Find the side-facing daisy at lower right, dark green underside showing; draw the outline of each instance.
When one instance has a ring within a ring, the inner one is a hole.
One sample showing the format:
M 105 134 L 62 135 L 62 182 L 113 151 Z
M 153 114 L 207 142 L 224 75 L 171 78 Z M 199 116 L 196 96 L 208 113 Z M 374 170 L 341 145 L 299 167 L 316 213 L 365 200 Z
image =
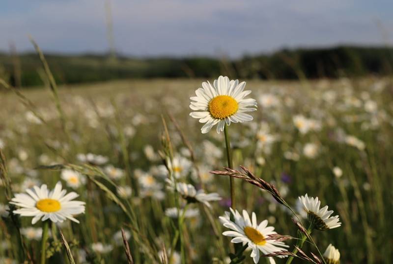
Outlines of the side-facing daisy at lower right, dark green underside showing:
M 316 229 L 327 230 L 341 226 L 338 216 L 331 217 L 333 211 L 328 211 L 327 205 L 319 209 L 321 206 L 321 201 L 319 201 L 318 197 L 309 198 L 309 196 L 306 194 L 305 196 L 300 196 L 299 201 L 303 204 L 309 221 Z

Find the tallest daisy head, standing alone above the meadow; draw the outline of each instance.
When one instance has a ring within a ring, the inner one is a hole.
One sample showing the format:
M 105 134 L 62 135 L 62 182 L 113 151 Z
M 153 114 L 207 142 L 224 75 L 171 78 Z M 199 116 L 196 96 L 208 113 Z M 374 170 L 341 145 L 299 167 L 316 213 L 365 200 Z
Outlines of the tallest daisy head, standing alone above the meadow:
M 229 80 L 228 77 L 220 76 L 214 80 L 213 86 L 210 82 L 202 82 L 203 88 L 198 88 L 193 96 L 190 108 L 201 112 L 192 112 L 190 116 L 205 123 L 201 131 L 203 134 L 217 124 L 217 133 L 224 131 L 225 123 L 251 121 L 253 117 L 246 114 L 256 110 L 255 99 L 244 97 L 251 91 L 243 91 L 246 82 L 239 83 L 238 80 Z

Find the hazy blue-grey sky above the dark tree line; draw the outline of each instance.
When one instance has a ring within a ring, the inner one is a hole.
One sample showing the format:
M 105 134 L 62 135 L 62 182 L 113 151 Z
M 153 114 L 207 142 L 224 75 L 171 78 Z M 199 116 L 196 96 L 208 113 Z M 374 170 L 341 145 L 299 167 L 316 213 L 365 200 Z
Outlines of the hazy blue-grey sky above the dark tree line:
M 393 42 L 392 0 L 110 0 L 115 46 L 136 56 L 229 55 Z M 105 0 L 12 0 L 0 50 L 108 50 Z

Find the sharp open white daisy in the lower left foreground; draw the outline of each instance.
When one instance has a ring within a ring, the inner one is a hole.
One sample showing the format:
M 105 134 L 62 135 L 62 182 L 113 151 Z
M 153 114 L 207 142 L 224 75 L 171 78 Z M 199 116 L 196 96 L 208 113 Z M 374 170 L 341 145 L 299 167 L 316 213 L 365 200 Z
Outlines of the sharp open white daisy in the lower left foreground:
M 14 214 L 21 216 L 34 216 L 31 220 L 35 224 L 42 218 L 42 221 L 51 219 L 52 222 L 63 222 L 70 219 L 79 223 L 73 216 L 84 213 L 84 202 L 72 201 L 79 195 L 76 192 L 66 194 L 62 190 L 61 183 L 57 182 L 55 189 L 49 192 L 46 184 L 41 187 L 34 186 L 27 189 L 26 193 L 17 193 L 11 199 L 11 204 L 22 207 L 13 211 Z

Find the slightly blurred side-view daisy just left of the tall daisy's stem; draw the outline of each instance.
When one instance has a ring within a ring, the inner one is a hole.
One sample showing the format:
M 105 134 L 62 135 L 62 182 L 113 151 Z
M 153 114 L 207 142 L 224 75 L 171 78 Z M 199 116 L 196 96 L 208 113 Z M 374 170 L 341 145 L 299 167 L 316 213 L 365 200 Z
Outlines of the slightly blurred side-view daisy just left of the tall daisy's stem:
M 174 184 L 171 180 L 167 179 L 168 189 L 174 190 Z M 177 191 L 180 195 L 186 199 L 188 202 L 200 202 L 206 205 L 207 207 L 211 207 L 211 201 L 220 201 L 222 198 L 217 192 L 205 193 L 204 190 L 196 190 L 195 187 L 191 184 L 186 184 L 179 182 L 177 183 Z

